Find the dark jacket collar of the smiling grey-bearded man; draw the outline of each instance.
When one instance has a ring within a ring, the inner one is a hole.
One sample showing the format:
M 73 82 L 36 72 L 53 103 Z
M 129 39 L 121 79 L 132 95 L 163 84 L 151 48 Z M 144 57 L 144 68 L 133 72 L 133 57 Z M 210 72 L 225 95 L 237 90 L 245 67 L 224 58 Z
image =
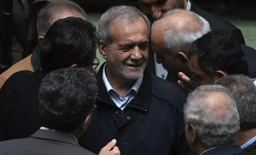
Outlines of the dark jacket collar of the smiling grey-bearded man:
M 97 85 L 99 87 L 98 100 L 101 100 L 102 102 L 116 106 L 114 102 L 111 100 L 107 92 L 107 88 L 103 82 L 103 68 L 105 64 L 106 62 L 101 65 L 96 76 Z M 133 107 L 142 111 L 147 111 L 149 109 L 149 104 L 151 102 L 151 95 L 152 95 L 151 87 L 152 87 L 151 75 L 146 69 L 144 71 L 142 84 L 140 86 L 138 93 L 136 94 L 135 98 L 132 99 L 131 102 L 126 107 Z

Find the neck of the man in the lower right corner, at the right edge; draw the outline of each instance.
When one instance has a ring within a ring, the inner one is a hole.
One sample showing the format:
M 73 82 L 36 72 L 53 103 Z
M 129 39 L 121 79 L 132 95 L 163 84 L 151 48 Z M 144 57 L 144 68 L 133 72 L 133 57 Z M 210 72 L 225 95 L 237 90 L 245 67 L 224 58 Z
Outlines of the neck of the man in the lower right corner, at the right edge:
M 256 136 L 256 129 L 250 129 L 246 131 L 239 131 L 237 134 L 237 144 L 239 146 L 244 145 L 246 142 Z

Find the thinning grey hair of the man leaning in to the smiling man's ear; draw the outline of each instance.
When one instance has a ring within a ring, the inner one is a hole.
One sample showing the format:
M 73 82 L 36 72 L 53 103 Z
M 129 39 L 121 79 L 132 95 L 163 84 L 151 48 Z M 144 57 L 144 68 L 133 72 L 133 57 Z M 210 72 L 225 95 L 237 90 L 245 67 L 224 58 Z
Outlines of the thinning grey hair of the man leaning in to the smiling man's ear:
M 175 27 L 174 25 L 170 25 L 169 27 L 165 28 L 163 42 L 165 44 L 165 48 L 167 48 L 167 50 L 174 56 L 179 51 L 188 51 L 195 40 L 201 38 L 204 34 L 207 34 L 211 31 L 210 25 L 206 19 L 192 11 L 187 11 L 184 9 L 169 10 L 163 14 L 159 20 L 168 15 L 172 15 L 181 11 L 187 12 L 194 17 L 195 26 L 190 26 L 187 24 L 183 27 Z M 152 28 L 159 20 L 153 23 Z M 197 30 L 195 30 L 195 28 Z

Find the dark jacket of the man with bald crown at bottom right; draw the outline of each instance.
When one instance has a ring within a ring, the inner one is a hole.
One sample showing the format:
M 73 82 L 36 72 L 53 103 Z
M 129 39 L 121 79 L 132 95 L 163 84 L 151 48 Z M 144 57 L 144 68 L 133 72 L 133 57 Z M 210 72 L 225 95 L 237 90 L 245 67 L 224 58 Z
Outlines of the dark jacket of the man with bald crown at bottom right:
M 241 147 L 237 144 L 227 144 L 208 149 L 201 153 L 201 155 L 237 155 L 241 150 Z

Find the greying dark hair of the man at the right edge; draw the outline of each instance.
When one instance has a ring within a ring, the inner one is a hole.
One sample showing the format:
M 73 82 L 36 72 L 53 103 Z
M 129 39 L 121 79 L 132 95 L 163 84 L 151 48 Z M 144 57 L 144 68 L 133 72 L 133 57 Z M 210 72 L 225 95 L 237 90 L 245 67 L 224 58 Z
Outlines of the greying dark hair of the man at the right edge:
M 226 87 L 237 103 L 240 130 L 256 128 L 256 86 L 249 77 L 232 75 L 215 82 Z

